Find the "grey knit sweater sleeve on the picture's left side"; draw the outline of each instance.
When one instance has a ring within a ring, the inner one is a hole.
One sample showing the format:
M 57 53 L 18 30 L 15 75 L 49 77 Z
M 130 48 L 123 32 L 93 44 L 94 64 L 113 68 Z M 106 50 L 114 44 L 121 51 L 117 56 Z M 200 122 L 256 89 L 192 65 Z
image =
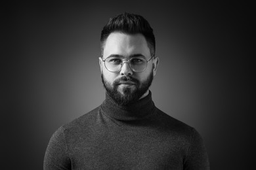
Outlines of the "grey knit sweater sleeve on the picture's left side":
M 66 143 L 63 127 L 60 127 L 49 141 L 45 152 L 45 159 L 43 161 L 43 169 L 71 169 L 71 161 L 68 156 L 68 145 Z

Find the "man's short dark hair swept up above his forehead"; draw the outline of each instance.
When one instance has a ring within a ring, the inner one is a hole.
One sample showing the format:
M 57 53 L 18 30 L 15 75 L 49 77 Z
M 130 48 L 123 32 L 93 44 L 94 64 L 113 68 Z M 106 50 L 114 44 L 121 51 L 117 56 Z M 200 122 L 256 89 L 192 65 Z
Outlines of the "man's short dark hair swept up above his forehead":
M 106 42 L 106 39 L 108 38 L 110 33 L 113 33 L 115 31 L 131 35 L 141 33 L 148 43 L 151 56 L 155 56 L 156 41 L 153 29 L 152 27 L 150 27 L 148 21 L 142 16 L 125 12 L 123 14 L 119 14 L 117 16 L 114 16 L 113 18 L 110 18 L 110 21 L 103 27 L 100 35 L 100 46 L 102 54 L 104 42 Z

